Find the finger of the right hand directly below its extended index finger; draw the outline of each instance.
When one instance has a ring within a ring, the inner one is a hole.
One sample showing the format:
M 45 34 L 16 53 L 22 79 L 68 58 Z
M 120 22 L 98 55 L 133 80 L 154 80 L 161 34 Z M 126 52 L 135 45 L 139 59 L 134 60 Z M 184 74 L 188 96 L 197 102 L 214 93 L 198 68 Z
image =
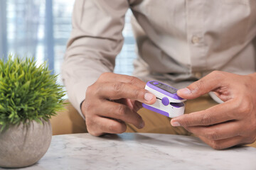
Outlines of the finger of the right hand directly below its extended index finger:
M 186 130 L 196 136 L 206 137 L 208 140 L 223 140 L 244 134 L 243 124 L 230 121 L 211 126 L 190 126 Z

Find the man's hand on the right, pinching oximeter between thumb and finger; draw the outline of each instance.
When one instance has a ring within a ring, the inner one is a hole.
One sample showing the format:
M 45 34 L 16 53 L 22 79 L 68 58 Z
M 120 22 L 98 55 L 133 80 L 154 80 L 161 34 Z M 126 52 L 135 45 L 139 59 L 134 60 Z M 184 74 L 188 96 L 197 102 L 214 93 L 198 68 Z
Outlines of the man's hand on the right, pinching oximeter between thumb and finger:
M 256 74 L 241 76 L 214 71 L 185 89 L 178 96 L 197 98 L 210 91 L 224 103 L 205 111 L 181 115 L 171 125 L 183 126 L 210 147 L 225 149 L 256 140 Z

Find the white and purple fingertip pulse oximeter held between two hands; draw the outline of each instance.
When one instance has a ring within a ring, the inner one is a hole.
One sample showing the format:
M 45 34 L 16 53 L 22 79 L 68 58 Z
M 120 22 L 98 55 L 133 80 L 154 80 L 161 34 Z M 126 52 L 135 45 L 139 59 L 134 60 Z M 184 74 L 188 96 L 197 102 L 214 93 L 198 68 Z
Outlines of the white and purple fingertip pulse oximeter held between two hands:
M 156 103 L 152 105 L 142 103 L 144 108 L 166 115 L 169 118 L 184 114 L 185 104 L 183 101 L 186 101 L 186 99 L 177 95 L 177 89 L 159 81 L 148 81 L 145 89 L 156 96 Z

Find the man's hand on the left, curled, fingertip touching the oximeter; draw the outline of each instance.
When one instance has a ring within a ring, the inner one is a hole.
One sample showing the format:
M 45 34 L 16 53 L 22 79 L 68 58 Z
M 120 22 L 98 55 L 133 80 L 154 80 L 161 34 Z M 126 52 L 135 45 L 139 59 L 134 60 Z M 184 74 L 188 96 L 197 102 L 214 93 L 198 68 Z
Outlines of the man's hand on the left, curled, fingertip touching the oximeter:
M 87 88 L 82 102 L 88 132 L 95 136 L 122 133 L 127 128 L 126 123 L 143 128 L 145 123 L 137 111 L 142 103 L 156 101 L 156 96 L 144 89 L 145 85 L 136 77 L 103 73 Z

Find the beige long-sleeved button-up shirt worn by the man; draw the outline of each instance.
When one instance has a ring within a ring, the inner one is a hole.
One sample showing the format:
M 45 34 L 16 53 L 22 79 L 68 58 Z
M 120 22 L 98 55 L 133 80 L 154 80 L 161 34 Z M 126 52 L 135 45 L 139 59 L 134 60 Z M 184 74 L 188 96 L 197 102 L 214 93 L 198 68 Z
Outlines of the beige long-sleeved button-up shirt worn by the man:
M 256 0 L 77 0 L 62 77 L 78 111 L 87 86 L 113 72 L 128 8 L 144 81 L 181 88 L 213 70 L 255 72 Z

